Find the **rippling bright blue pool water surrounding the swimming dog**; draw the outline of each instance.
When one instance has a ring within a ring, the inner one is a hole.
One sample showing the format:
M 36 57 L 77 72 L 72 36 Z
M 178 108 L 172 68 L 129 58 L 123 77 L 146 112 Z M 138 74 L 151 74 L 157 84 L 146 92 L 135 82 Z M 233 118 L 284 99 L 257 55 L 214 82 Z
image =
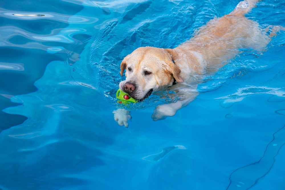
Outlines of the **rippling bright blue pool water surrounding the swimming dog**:
M 121 60 L 174 48 L 239 0 L 0 1 L 0 189 L 284 190 L 285 32 L 244 50 L 174 117 L 112 111 Z M 248 18 L 285 23 L 265 0 Z

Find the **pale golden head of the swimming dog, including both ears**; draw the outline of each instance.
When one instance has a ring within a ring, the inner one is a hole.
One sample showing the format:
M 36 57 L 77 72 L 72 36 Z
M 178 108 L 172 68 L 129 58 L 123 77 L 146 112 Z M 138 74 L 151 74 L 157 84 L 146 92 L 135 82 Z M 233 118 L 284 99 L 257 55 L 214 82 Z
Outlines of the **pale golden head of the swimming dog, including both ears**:
M 172 49 L 142 47 L 127 55 L 121 63 L 126 80 L 119 87 L 137 100 L 148 97 L 160 87 L 171 86 L 174 79 L 183 82 L 180 69 L 175 64 L 176 52 Z

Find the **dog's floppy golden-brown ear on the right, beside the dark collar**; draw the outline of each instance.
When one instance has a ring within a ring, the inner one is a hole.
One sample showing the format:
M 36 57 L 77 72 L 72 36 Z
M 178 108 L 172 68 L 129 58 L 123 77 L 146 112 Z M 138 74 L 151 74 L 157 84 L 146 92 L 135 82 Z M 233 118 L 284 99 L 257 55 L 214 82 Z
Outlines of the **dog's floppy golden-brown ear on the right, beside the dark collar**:
M 166 69 L 172 74 L 172 76 L 177 82 L 183 82 L 183 79 L 179 75 L 181 73 L 181 70 L 175 64 L 175 60 L 177 58 L 177 52 L 173 49 L 165 49 L 165 50 L 170 55 L 170 59 L 167 59 L 168 66 L 166 66 Z

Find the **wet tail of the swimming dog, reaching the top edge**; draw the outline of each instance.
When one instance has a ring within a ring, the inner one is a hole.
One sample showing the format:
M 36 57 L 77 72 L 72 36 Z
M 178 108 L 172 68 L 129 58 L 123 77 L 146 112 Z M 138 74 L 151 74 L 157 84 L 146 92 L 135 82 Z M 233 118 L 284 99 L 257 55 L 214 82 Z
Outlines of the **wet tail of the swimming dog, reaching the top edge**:
M 241 16 L 249 13 L 251 11 L 251 9 L 253 9 L 259 1 L 260 0 L 244 0 L 244 1 L 241 1 L 241 2 L 239 2 L 239 4 L 237 4 L 235 9 L 229 15 L 241 17 Z

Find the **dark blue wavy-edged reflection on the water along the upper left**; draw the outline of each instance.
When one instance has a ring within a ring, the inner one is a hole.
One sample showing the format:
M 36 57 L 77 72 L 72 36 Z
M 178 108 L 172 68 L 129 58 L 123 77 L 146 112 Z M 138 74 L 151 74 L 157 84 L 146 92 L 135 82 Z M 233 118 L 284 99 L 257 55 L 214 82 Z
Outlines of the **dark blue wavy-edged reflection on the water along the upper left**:
M 0 81 L 5 81 L 0 84 L 0 94 L 14 97 L 37 90 L 34 82 L 42 77 L 46 65 L 54 60 L 64 61 L 65 57 L 62 54 L 50 55 L 46 49 L 68 46 L 59 32 L 68 26 L 68 19 L 82 8 L 81 3 L 64 1 L 0 1 Z M 53 40 L 58 40 L 58 44 L 51 42 Z M 16 105 L 0 96 L 0 131 L 27 119 L 2 111 Z

